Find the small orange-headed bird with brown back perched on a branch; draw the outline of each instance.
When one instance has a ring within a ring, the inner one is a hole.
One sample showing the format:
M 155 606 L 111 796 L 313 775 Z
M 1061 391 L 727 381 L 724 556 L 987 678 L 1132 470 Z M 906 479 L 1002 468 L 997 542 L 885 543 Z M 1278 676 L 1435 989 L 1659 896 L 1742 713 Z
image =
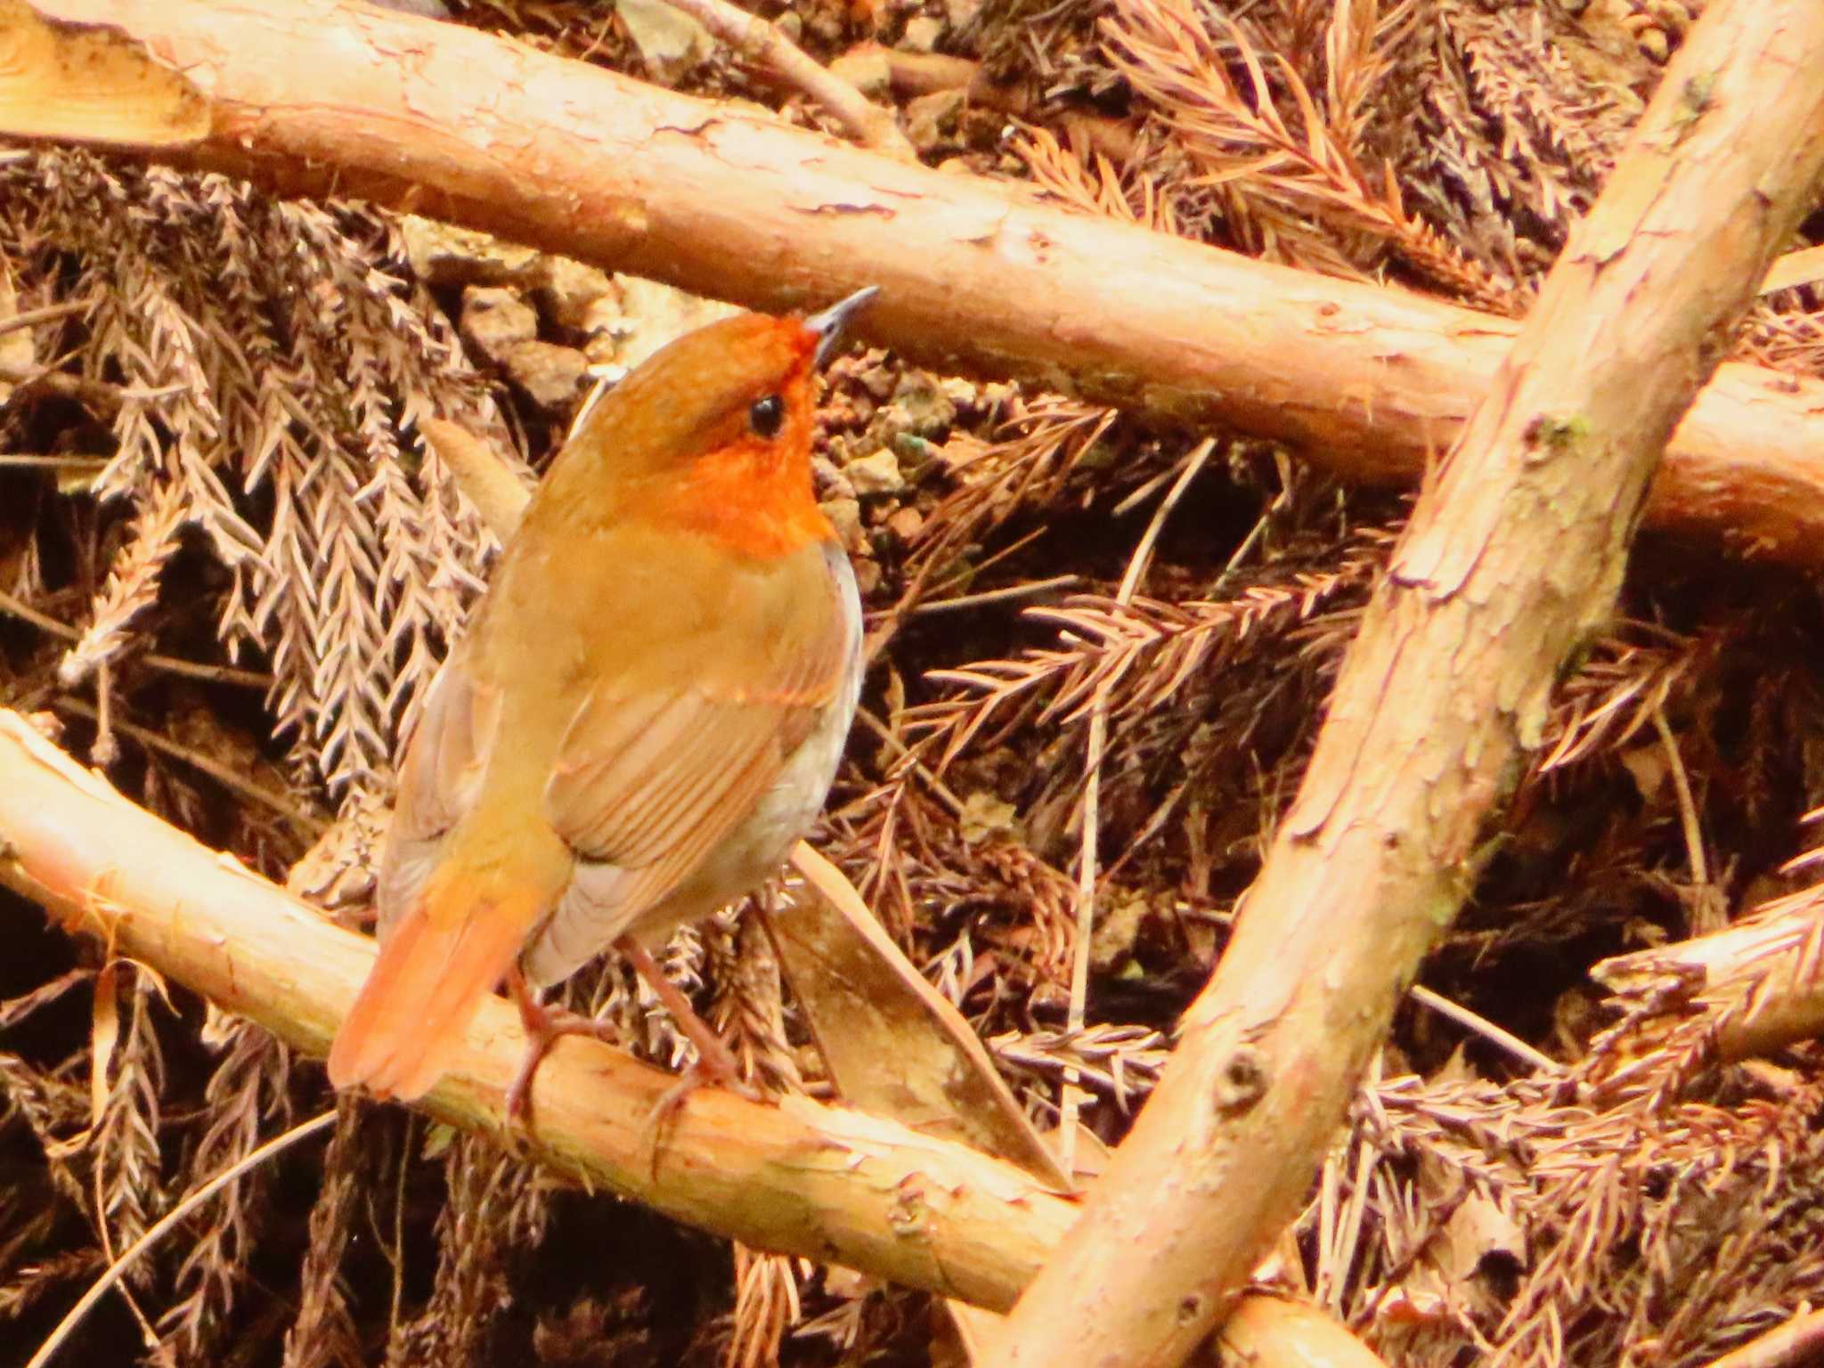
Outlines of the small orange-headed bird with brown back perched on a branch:
M 536 989 L 609 945 L 730 1082 L 646 947 L 764 881 L 835 777 L 861 602 L 812 494 L 812 370 L 874 294 L 679 337 L 553 461 L 407 742 L 336 1087 L 421 1096 L 507 979 L 516 1113 L 576 1029 Z

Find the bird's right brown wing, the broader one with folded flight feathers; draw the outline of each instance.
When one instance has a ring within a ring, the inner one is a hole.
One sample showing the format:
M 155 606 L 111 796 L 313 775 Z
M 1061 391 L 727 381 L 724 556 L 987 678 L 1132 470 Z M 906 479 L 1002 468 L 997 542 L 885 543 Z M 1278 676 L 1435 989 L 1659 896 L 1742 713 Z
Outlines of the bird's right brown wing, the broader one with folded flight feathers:
M 850 631 L 821 560 L 808 587 L 828 595 L 826 627 L 801 651 L 673 691 L 602 680 L 578 710 L 545 788 L 545 817 L 580 861 L 545 928 L 553 947 L 575 947 L 564 959 L 607 947 L 688 879 L 843 688 Z

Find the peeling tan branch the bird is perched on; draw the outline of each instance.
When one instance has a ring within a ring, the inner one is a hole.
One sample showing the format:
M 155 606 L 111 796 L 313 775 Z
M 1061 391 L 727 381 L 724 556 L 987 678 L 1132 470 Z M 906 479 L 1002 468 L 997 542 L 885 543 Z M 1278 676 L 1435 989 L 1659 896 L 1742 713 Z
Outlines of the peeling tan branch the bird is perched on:
M 4 710 L 0 883 L 312 1056 L 374 959 L 372 939 L 135 808 Z M 514 1009 L 489 1000 L 425 1109 L 502 1127 L 523 1043 Z M 675 1083 L 564 1040 L 538 1071 L 525 1145 L 702 1229 L 989 1308 L 1012 1302 L 1076 1211 L 1012 1164 L 804 1098 L 699 1089 L 655 1155 L 649 1118 Z

